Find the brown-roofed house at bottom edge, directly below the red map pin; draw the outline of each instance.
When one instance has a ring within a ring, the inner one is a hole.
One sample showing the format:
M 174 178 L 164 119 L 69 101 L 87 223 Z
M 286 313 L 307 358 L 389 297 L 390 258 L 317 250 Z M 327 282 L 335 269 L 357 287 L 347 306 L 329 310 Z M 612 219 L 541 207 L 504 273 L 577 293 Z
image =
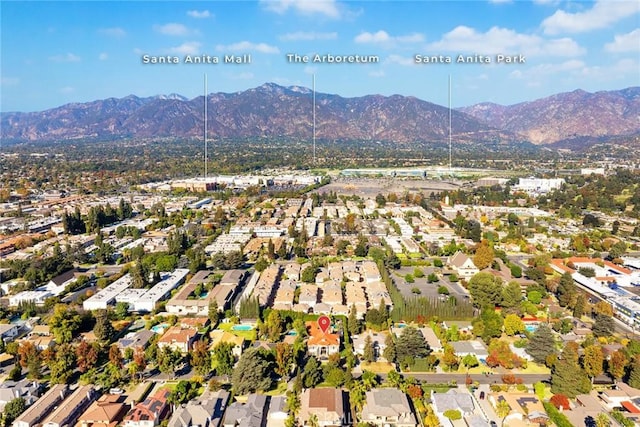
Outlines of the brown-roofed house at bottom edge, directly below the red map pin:
M 302 392 L 298 421 L 303 426 L 318 427 L 347 425 L 344 392 L 339 388 L 309 388 Z

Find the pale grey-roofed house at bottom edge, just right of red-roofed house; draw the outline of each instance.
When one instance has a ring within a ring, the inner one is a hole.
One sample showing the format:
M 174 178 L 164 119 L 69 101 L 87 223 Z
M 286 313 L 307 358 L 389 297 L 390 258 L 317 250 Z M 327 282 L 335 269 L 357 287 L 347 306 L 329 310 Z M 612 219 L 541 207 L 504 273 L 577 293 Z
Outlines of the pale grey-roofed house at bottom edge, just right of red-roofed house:
M 226 390 L 205 392 L 197 400 L 176 408 L 168 427 L 219 427 L 229 396 Z

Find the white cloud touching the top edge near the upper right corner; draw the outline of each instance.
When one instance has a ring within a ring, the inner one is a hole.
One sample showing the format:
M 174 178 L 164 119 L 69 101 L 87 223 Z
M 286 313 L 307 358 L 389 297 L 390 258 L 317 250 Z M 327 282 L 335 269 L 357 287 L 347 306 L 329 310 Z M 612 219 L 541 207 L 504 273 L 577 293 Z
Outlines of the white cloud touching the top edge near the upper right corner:
M 583 33 L 607 28 L 619 20 L 640 12 L 638 1 L 598 0 L 591 9 L 569 13 L 557 10 L 542 21 L 546 34 Z

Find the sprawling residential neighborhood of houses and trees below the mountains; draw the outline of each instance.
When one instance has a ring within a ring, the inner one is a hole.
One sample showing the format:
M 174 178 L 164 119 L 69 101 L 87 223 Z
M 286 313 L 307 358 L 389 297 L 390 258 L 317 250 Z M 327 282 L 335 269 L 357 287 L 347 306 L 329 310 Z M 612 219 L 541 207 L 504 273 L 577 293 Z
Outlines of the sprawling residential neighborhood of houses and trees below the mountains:
M 59 221 L 3 239 L 6 425 L 640 423 L 635 217 L 358 182 L 33 200 Z

